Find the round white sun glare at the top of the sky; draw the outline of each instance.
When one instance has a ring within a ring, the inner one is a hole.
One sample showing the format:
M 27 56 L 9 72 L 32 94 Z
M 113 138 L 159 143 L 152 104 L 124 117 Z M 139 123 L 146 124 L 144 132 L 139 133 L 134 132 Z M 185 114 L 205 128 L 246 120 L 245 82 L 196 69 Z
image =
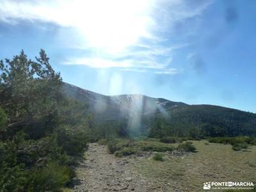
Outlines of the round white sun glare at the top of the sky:
M 68 17 L 92 47 L 106 52 L 123 51 L 140 37 L 150 37 L 149 1 L 72 1 Z M 71 21 L 70 20 L 70 21 Z

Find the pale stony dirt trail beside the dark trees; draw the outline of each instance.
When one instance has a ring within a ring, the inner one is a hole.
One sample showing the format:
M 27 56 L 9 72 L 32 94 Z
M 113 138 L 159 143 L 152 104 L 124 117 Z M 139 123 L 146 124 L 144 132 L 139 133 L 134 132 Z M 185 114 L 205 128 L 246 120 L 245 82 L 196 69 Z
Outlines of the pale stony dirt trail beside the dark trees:
M 147 157 L 118 158 L 105 145 L 91 143 L 86 161 L 77 168 L 80 183 L 72 191 L 162 191 L 133 168 L 140 158 Z

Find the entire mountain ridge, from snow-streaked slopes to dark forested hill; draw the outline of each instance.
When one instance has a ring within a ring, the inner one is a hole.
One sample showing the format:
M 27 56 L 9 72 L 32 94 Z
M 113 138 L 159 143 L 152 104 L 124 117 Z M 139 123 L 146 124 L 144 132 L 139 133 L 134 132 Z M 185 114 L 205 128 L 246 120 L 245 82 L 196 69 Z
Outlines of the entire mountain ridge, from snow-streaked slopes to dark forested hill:
M 71 99 L 86 104 L 97 121 L 125 122 L 128 128 L 151 132 L 153 137 L 189 136 L 191 132 L 200 136 L 256 135 L 255 113 L 145 95 L 106 96 L 68 83 L 63 83 L 63 90 Z

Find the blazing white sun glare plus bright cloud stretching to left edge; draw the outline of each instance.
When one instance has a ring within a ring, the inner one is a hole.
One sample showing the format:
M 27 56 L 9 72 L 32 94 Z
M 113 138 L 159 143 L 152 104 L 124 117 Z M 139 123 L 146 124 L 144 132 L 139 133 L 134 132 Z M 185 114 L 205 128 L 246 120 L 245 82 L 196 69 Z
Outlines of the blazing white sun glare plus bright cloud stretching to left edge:
M 86 47 L 115 53 L 151 36 L 156 1 L 161 0 L 13 0 L 1 2 L 1 11 L 10 22 L 42 20 L 75 29 Z

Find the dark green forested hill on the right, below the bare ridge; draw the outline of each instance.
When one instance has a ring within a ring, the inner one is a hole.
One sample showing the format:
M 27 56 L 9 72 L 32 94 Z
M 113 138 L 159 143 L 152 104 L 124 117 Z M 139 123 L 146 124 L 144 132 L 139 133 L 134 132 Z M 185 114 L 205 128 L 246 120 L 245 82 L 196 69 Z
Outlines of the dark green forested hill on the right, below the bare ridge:
M 212 137 L 252 136 L 256 134 L 256 115 L 236 109 L 210 105 L 172 108 L 168 116 L 161 113 L 145 116 L 142 124 L 152 138 L 188 137 L 194 140 Z

